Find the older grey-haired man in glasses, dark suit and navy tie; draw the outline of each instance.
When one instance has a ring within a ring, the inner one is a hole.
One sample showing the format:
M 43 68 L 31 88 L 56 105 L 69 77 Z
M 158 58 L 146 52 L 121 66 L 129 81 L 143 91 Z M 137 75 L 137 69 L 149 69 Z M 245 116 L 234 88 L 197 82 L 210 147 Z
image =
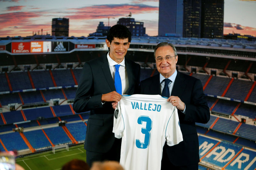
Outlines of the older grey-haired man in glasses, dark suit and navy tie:
M 160 94 L 178 108 L 183 141 L 163 148 L 161 169 L 198 170 L 199 144 L 195 122 L 207 123 L 210 111 L 199 79 L 176 70 L 176 48 L 159 43 L 154 52 L 160 74 L 140 82 L 141 94 Z M 165 84 L 166 82 L 166 84 Z

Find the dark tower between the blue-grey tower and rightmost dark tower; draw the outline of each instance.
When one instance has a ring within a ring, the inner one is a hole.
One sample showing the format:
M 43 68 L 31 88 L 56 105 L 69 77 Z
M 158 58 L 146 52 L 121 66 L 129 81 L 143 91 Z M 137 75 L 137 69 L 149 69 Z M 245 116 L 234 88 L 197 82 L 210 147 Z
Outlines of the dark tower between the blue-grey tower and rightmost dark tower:
M 201 36 L 201 0 L 183 1 L 183 37 Z

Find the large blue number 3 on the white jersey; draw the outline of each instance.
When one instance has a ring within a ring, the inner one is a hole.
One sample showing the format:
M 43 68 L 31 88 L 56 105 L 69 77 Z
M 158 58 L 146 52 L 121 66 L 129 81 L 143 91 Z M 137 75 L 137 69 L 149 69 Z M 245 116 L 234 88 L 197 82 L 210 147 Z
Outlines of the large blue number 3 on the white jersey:
M 141 133 L 145 134 L 144 143 L 141 143 L 140 139 L 136 139 L 137 148 L 146 149 L 150 141 L 150 130 L 152 128 L 152 120 L 148 116 L 140 116 L 137 122 L 138 124 L 146 122 L 146 128 L 141 128 Z

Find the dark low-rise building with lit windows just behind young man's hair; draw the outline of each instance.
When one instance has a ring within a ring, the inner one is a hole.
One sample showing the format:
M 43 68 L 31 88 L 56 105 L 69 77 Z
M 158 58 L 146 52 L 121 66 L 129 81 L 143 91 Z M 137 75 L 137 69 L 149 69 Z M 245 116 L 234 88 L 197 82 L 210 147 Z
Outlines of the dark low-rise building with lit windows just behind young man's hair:
M 132 33 L 132 36 L 146 35 L 146 28 L 143 22 L 135 21 L 134 18 L 119 18 L 117 24 L 126 26 Z

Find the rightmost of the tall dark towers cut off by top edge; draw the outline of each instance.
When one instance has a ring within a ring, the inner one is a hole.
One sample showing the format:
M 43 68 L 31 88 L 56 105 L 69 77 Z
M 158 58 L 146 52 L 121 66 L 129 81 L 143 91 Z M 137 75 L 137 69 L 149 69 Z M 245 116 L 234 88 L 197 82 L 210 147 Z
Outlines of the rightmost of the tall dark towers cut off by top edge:
M 223 39 L 224 0 L 202 1 L 201 38 Z

